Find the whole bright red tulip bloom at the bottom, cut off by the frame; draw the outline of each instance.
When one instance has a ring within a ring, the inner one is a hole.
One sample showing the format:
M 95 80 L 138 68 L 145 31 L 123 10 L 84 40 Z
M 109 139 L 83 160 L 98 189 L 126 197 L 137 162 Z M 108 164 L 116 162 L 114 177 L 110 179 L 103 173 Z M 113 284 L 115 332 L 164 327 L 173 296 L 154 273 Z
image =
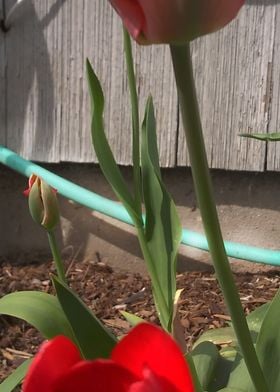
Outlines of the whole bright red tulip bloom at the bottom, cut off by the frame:
M 110 359 L 86 361 L 66 337 L 44 343 L 23 392 L 194 392 L 188 365 L 175 341 L 142 323 L 113 349 Z

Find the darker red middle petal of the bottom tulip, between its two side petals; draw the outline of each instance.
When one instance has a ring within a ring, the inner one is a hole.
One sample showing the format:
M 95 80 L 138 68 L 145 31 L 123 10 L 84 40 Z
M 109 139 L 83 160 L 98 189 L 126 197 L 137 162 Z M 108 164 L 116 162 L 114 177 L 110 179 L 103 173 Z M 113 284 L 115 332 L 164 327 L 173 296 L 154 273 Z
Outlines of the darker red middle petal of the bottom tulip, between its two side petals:
M 127 392 L 137 381 L 134 374 L 109 359 L 83 361 L 60 377 L 52 392 Z

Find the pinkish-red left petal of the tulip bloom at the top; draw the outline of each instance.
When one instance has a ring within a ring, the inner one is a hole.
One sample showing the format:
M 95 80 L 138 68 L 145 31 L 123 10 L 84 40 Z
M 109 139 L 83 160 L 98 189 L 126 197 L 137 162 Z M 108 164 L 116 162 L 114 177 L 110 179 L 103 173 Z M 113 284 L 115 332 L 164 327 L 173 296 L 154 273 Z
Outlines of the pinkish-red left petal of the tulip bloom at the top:
M 123 20 L 132 37 L 136 40 L 142 35 L 145 23 L 144 14 L 137 0 L 111 0 L 112 6 Z

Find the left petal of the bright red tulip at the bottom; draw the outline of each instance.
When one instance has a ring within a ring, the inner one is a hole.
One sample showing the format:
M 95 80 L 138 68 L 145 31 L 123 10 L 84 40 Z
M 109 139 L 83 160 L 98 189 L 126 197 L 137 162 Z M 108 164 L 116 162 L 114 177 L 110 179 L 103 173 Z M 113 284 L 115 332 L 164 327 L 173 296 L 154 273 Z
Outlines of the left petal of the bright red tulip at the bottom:
M 53 392 L 53 382 L 79 361 L 79 350 L 65 336 L 43 343 L 25 377 L 22 392 Z

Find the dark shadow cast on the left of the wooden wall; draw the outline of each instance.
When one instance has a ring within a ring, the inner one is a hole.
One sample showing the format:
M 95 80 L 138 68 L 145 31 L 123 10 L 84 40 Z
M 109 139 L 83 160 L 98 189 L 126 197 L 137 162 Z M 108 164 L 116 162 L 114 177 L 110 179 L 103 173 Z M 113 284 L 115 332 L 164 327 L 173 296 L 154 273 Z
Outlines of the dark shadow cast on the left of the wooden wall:
M 36 113 L 34 139 L 29 154 L 38 160 L 42 157 L 41 149 L 50 151 L 53 148 L 54 138 L 54 82 L 45 29 L 56 17 L 64 2 L 65 0 L 54 2 L 40 20 L 34 1 L 24 0 L 14 11 L 11 17 L 11 28 L 5 34 L 8 86 L 6 144 L 9 148 L 16 150 L 23 146 L 22 124 L 25 123 L 27 108 L 29 108 L 30 116 L 33 115 L 32 111 Z M 14 4 L 15 1 L 7 2 L 7 13 Z M 37 81 L 36 96 L 30 104 L 30 92 L 35 79 Z M 29 135 L 32 135 L 32 130 Z

